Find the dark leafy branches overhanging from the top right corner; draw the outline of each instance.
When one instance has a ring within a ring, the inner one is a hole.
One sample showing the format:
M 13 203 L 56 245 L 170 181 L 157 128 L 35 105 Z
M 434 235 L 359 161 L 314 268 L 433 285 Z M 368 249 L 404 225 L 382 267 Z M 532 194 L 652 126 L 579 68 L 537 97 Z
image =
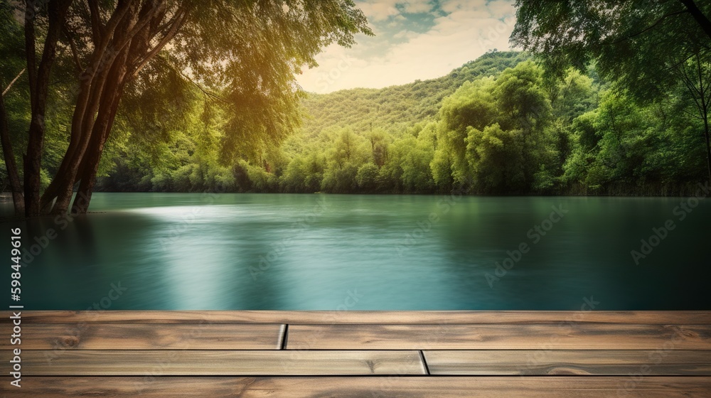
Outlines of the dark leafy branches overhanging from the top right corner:
M 536 53 L 549 71 L 584 70 L 594 62 L 603 77 L 642 103 L 686 87 L 706 122 L 711 180 L 710 2 L 517 0 L 516 7 L 512 43 Z

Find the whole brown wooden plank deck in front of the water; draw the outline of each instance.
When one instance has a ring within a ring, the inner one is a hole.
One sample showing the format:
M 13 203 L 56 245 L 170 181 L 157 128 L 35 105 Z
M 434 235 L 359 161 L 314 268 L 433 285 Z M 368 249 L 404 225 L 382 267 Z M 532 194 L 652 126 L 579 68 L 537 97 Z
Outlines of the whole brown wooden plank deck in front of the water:
M 711 397 L 711 312 L 22 316 L 22 388 L 0 377 L 6 397 Z

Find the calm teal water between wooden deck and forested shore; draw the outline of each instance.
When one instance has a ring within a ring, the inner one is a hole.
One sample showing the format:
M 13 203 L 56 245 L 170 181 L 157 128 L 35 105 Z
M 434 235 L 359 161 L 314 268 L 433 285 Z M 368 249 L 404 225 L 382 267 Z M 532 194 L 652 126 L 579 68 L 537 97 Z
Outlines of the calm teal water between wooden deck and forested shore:
M 709 310 L 711 201 L 688 201 L 96 193 L 1 222 L 0 252 L 21 227 L 25 309 Z

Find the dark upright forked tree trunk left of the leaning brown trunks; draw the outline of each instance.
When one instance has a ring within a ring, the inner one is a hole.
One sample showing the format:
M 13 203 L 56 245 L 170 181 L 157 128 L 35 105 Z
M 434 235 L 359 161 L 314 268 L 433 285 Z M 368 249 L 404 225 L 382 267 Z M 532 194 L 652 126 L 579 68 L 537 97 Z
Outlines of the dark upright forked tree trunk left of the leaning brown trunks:
M 25 179 L 25 215 L 28 217 L 40 213 L 40 171 L 42 165 L 42 147 L 44 144 L 44 114 L 47 104 L 47 93 L 50 71 L 57 55 L 57 41 L 67 10 L 72 0 L 53 0 L 48 4 L 49 25 L 45 38 L 42 60 L 35 69 L 35 28 L 33 11 L 26 12 L 25 50 L 27 58 L 28 77 L 31 93 L 31 120 L 28 132 L 27 152 L 23 158 Z M 34 2 L 28 0 L 27 7 L 33 7 Z

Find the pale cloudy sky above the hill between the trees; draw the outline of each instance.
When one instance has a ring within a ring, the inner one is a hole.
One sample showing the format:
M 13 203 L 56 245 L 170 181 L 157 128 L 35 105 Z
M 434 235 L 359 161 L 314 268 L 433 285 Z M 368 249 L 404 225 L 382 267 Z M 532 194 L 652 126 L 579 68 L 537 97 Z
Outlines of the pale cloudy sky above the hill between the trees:
M 297 76 L 308 92 L 381 88 L 447 75 L 488 50 L 510 49 L 513 0 L 356 0 L 374 37 L 330 45 Z

